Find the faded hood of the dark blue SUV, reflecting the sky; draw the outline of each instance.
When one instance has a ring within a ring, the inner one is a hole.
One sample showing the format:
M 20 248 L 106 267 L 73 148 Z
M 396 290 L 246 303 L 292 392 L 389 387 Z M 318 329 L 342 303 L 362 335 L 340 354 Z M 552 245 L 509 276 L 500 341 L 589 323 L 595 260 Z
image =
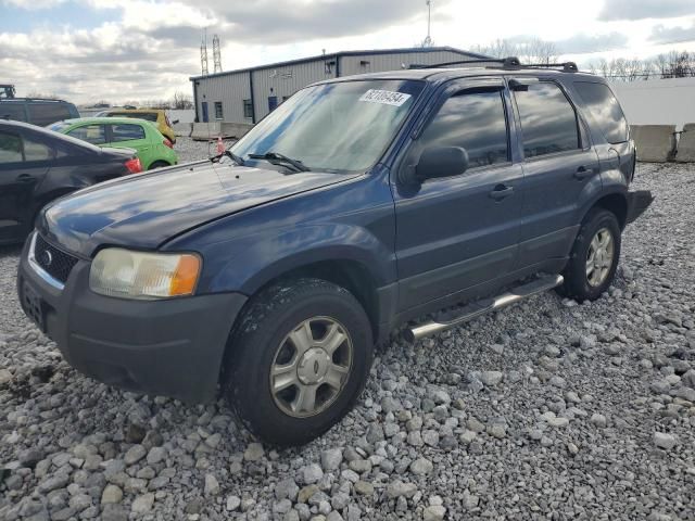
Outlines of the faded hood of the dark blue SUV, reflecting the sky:
M 191 163 L 75 192 L 48 206 L 38 227 L 85 257 L 102 244 L 156 249 L 205 223 L 354 177 Z

